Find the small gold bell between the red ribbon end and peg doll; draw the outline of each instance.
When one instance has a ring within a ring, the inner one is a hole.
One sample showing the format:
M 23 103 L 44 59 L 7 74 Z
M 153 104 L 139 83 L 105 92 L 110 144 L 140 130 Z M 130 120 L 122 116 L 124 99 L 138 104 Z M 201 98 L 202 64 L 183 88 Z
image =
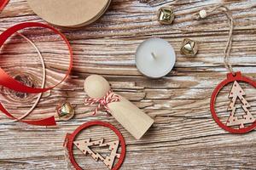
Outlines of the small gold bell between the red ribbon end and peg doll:
M 56 107 L 58 116 L 62 121 L 68 121 L 74 116 L 73 106 L 69 102 L 64 102 Z

